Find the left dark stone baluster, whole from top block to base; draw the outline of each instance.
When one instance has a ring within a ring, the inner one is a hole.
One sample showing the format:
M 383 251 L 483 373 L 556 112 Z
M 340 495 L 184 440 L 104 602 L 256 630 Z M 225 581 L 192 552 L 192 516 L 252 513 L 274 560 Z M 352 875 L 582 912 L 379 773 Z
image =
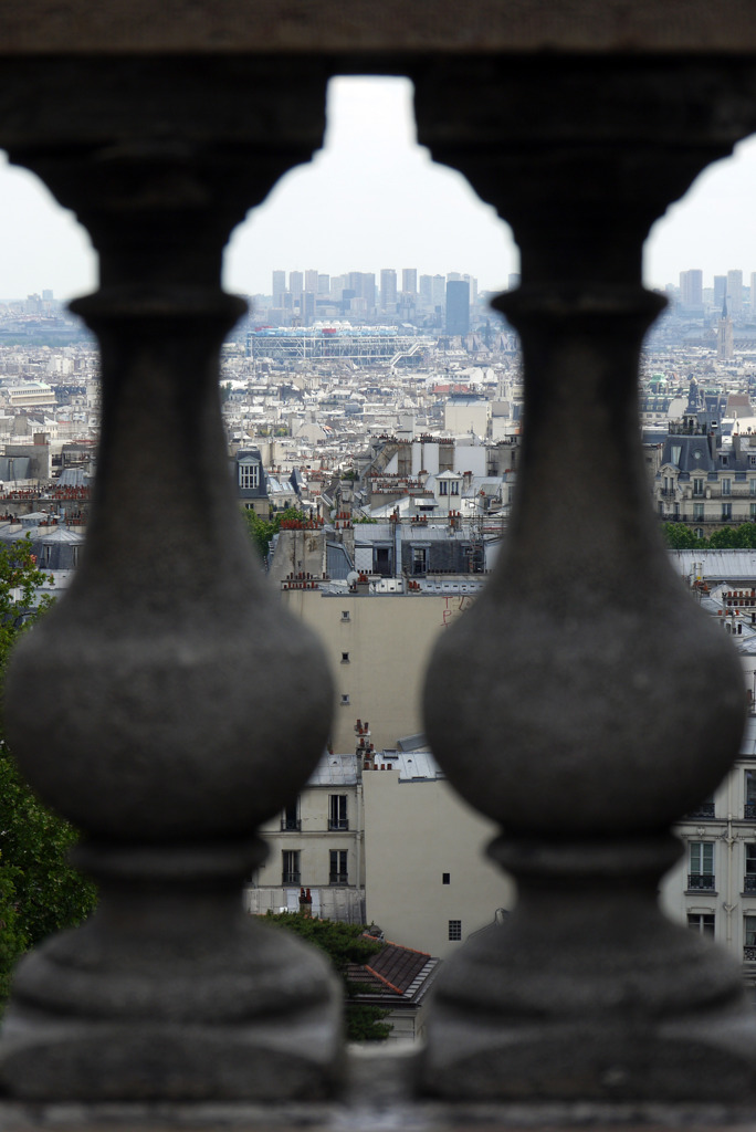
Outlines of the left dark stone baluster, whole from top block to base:
M 242 530 L 217 354 L 244 309 L 220 288 L 223 246 L 319 145 L 325 78 L 104 60 L 69 85 L 72 66 L 40 63 L 43 101 L 2 144 L 100 252 L 100 291 L 72 305 L 102 348 L 98 475 L 84 563 L 19 646 L 6 712 L 101 895 L 22 961 L 0 1080 L 43 1099 L 324 1096 L 334 979 L 248 917 L 241 889 L 257 826 L 324 748 L 332 688 Z

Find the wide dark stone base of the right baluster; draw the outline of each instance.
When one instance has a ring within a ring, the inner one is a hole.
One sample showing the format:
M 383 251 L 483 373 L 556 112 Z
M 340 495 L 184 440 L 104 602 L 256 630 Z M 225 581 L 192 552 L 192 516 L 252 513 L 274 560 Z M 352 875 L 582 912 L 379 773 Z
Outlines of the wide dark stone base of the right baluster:
M 756 1098 L 756 1013 L 725 952 L 671 923 L 673 838 L 495 842 L 519 903 L 438 979 L 423 1091 L 449 1099 Z

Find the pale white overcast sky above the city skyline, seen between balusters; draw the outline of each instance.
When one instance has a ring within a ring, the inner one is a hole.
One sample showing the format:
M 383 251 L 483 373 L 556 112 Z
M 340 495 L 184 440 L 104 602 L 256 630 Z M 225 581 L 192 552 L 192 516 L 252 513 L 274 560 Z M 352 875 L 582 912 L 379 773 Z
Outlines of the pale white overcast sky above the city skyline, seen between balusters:
M 704 286 L 733 268 L 756 272 L 756 137 L 706 170 L 658 222 L 645 282 L 677 283 L 701 267 Z M 326 146 L 290 172 L 237 229 L 226 252 L 231 291 L 269 293 L 275 268 L 329 275 L 381 267 L 470 272 L 482 289 L 518 269 L 508 226 L 464 178 L 414 144 L 406 79 L 342 78 L 329 89 Z M 52 289 L 70 299 L 96 286 L 84 230 L 25 170 L 0 164 L 0 299 Z

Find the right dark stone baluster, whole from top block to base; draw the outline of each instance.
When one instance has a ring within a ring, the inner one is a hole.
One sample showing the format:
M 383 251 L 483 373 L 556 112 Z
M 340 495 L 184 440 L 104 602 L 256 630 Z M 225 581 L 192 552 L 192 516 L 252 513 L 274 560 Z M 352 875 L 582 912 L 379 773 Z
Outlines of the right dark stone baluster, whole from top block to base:
M 513 224 L 522 288 L 496 306 L 526 383 L 501 561 L 426 687 L 433 751 L 501 823 L 490 851 L 518 903 L 441 972 L 423 1088 L 753 1097 L 739 969 L 656 900 L 680 852 L 671 823 L 737 756 L 745 693 L 655 529 L 637 360 L 663 306 L 641 285 L 647 229 L 753 129 L 756 89 L 737 66 L 461 62 L 418 76 L 418 119 Z

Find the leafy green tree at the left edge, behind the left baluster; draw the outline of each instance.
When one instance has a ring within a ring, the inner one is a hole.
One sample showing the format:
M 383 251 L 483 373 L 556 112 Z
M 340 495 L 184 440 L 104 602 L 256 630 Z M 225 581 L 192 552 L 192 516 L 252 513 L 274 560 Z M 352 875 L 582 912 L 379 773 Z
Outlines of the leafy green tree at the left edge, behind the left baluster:
M 48 575 L 28 537 L 0 549 L 0 684 L 20 634 L 51 604 L 40 598 Z M 95 886 L 71 869 L 77 833 L 46 809 L 22 778 L 0 718 L 0 1010 L 16 959 L 51 932 L 79 924 L 94 908 Z

